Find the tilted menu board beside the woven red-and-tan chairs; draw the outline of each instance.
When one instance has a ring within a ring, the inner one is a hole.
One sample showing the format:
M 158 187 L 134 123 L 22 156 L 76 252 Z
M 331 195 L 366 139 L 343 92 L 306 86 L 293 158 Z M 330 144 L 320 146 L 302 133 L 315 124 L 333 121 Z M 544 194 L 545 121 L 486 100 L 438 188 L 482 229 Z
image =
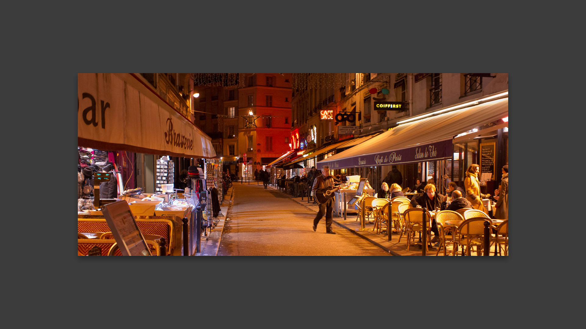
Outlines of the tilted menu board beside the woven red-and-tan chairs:
M 152 256 L 126 201 L 104 205 L 102 212 L 123 256 Z

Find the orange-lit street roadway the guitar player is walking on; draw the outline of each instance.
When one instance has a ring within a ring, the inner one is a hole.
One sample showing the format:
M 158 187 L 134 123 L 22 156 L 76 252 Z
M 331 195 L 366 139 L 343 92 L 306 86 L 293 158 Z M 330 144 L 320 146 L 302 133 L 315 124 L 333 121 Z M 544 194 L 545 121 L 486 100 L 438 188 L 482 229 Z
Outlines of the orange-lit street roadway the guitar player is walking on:
M 315 211 L 262 183 L 234 183 L 231 192 L 218 256 L 389 256 L 336 223 L 337 234 L 326 234 L 325 217 L 314 232 Z

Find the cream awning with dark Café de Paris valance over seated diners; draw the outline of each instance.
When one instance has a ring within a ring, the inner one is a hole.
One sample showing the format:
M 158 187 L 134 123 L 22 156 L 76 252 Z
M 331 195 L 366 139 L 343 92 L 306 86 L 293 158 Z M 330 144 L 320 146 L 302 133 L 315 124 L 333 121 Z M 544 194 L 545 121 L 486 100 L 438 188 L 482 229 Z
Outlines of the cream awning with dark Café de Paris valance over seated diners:
M 407 122 L 328 157 L 316 167 L 341 169 L 451 159 L 456 135 L 506 116 L 508 97 Z

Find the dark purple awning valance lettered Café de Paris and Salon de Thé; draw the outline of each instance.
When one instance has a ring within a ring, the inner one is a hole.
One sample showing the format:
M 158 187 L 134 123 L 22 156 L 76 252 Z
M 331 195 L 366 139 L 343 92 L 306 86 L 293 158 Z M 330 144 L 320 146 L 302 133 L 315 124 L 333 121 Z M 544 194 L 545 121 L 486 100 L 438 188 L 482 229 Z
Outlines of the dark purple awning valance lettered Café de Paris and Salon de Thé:
M 330 169 L 340 169 L 451 159 L 453 149 L 454 145 L 452 145 L 452 140 L 448 139 L 442 142 L 415 146 L 413 148 L 348 157 L 346 159 L 332 160 L 331 162 L 323 161 L 319 162 L 319 167 L 328 165 Z

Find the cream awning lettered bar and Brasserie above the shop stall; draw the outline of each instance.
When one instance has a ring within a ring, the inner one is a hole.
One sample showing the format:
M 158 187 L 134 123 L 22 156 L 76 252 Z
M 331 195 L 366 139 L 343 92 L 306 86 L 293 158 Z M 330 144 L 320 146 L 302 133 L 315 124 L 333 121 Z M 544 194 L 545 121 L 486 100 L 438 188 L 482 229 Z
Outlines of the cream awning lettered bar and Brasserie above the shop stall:
M 216 157 L 212 139 L 130 73 L 77 74 L 77 145 Z

